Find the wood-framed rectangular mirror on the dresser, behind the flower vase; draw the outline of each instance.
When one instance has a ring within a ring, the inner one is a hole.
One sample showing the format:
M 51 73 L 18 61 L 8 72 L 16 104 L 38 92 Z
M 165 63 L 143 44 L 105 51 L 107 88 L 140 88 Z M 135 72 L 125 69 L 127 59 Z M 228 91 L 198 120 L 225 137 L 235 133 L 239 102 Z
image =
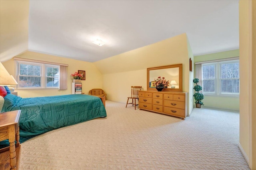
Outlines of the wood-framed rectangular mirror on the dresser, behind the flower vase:
M 147 68 L 147 90 L 156 90 L 153 82 L 159 76 L 170 82 L 162 91 L 182 92 L 182 64 Z

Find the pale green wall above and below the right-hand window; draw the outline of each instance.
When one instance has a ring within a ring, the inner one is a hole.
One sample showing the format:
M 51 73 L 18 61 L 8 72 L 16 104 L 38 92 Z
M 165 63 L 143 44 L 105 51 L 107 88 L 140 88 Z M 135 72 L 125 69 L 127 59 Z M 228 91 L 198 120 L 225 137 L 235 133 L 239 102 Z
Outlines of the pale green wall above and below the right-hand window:
M 239 57 L 239 49 L 224 51 L 220 53 L 212 53 L 208 55 L 194 56 L 194 60 L 195 62 L 200 62 L 200 61 L 209 61 L 209 60 L 216 60 L 216 59 L 225 59 L 230 57 Z M 240 73 L 240 75 L 242 74 Z M 239 97 L 204 95 L 203 102 L 204 102 L 203 107 L 213 107 L 218 109 L 229 109 L 229 110 L 239 111 Z

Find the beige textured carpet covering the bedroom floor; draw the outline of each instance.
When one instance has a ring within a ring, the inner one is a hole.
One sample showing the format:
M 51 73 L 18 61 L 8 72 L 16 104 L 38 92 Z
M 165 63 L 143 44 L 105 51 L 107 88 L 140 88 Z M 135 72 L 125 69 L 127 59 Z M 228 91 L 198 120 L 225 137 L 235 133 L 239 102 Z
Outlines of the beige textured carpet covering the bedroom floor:
M 22 143 L 20 170 L 249 170 L 238 112 L 194 108 L 183 121 L 108 100 L 106 111 Z

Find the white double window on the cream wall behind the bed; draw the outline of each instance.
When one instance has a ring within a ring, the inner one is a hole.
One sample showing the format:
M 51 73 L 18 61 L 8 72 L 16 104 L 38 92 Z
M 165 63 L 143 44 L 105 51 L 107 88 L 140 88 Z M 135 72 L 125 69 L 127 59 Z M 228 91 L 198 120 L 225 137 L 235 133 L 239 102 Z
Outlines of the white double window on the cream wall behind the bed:
M 18 88 L 58 88 L 59 66 L 18 61 Z

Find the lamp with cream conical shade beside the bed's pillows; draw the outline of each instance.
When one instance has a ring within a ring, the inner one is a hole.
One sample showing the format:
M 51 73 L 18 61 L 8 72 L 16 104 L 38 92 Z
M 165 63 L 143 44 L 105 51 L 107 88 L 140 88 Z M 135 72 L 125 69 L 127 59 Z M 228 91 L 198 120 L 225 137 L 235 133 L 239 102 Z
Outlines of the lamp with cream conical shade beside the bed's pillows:
M 12 75 L 8 73 L 4 65 L 0 62 L 0 86 L 14 86 L 18 83 Z M 4 105 L 4 98 L 0 96 L 0 112 Z

